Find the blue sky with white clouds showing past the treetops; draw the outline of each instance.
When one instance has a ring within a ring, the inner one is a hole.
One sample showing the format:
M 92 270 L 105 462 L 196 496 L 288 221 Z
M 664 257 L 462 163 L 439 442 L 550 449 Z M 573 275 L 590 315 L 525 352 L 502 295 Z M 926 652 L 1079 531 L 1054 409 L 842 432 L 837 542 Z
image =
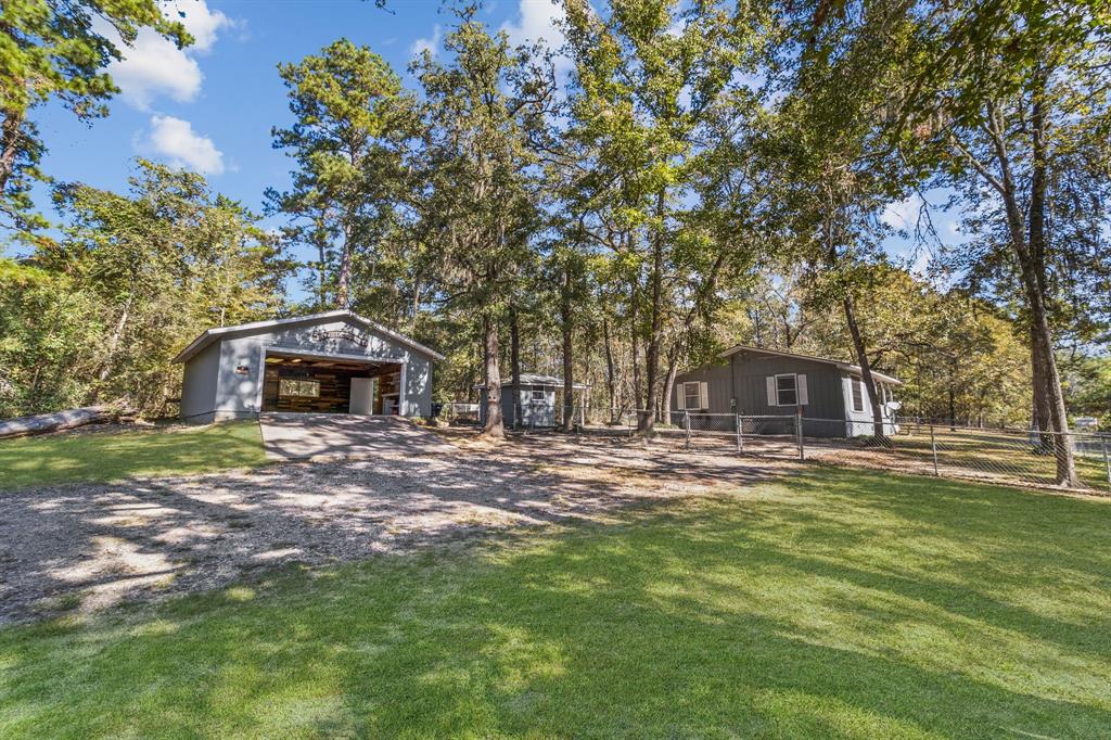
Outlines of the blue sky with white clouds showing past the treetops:
M 39 111 L 49 149 L 43 169 L 59 181 L 123 190 L 131 159 L 143 156 L 189 167 L 212 188 L 261 212 L 263 191 L 289 182 L 290 161 L 271 148 L 270 130 L 291 122 L 277 66 L 347 37 L 380 53 L 407 82 L 413 54 L 436 49 L 454 18 L 440 0 L 389 0 L 388 10 L 358 0 L 163 0 L 197 43 L 177 50 L 144 31 L 109 71 L 122 89 L 111 114 L 92 126 L 58 106 Z M 514 42 L 546 39 L 558 46 L 552 0 L 491 0 L 481 19 L 504 28 Z M 49 208 L 46 189 L 39 202 Z M 917 203 L 893 204 L 891 226 L 912 218 Z M 272 223 L 279 221 L 272 220 Z M 889 251 L 905 254 L 900 239 Z M 920 259 L 921 262 L 921 259 Z M 294 291 L 296 292 L 296 291 Z

